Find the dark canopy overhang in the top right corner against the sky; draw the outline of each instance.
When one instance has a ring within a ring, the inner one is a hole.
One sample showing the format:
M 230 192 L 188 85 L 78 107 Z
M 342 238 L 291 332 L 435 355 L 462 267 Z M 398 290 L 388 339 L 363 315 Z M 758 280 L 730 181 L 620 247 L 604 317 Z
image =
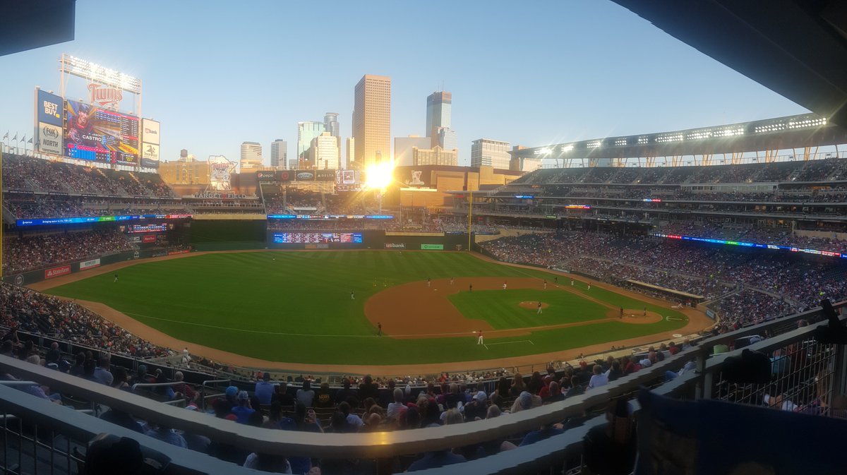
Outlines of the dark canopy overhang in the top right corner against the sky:
M 843 0 L 613 0 L 700 52 L 847 127 Z

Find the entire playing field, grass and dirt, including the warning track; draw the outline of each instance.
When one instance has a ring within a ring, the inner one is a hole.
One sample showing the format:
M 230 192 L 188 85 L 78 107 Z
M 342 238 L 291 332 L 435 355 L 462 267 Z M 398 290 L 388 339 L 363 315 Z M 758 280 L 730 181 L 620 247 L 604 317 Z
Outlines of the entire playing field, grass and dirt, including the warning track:
M 208 349 L 219 361 L 253 366 L 505 365 L 590 345 L 656 341 L 711 323 L 699 311 L 611 286 L 587 290 L 582 280 L 544 289 L 551 273 L 467 252 L 201 252 L 116 265 L 125 266 L 119 285 L 108 266 L 34 287 L 78 299 L 153 342 L 179 347 L 173 338 L 194 353 Z M 504 281 L 508 290 L 501 290 Z M 536 314 L 524 301 L 547 307 Z M 618 318 L 618 307 L 646 307 L 650 318 L 633 311 Z M 479 329 L 487 345 L 474 345 Z M 494 345 L 524 340 L 532 345 Z

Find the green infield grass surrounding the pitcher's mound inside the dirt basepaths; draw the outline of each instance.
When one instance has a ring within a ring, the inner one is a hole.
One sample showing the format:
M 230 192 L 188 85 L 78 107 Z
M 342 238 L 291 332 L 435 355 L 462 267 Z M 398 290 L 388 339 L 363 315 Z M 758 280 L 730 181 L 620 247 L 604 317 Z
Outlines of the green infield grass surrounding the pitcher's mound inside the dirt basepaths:
M 485 320 L 495 329 L 523 329 L 542 325 L 585 322 L 606 318 L 608 307 L 586 300 L 573 292 L 547 290 L 480 290 L 462 291 L 447 298 L 467 318 Z M 523 301 L 532 302 L 531 308 L 520 307 Z M 548 304 L 538 313 L 537 303 Z

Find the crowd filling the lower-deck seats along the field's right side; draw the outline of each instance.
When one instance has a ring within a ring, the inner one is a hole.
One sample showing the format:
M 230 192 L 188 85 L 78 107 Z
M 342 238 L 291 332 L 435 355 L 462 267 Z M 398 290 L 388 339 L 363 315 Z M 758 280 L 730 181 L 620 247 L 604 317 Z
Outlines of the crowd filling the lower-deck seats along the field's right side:
M 794 253 L 728 249 L 639 235 L 558 231 L 487 241 L 482 247 L 507 262 L 572 269 L 613 284 L 634 279 L 689 294 L 717 297 L 749 287 L 782 295 L 794 311 L 817 307 L 822 298 L 847 297 L 841 259 L 804 259 Z M 756 301 L 766 301 L 758 293 Z M 727 305 L 727 318 L 745 322 L 767 318 L 746 312 L 755 307 Z M 788 310 L 783 310 L 788 312 Z

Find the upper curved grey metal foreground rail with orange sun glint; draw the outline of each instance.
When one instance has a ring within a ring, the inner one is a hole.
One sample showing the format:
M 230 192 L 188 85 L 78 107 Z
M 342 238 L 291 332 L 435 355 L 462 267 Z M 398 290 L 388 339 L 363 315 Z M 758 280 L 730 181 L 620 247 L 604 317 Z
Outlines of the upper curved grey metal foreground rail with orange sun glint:
M 839 304 L 839 307 L 842 306 L 844 306 L 844 302 Z M 820 312 L 820 310 L 804 312 L 796 318 L 807 318 L 811 313 L 817 312 Z M 567 417 L 579 416 L 588 408 L 605 406 L 610 398 L 631 394 L 639 386 L 663 378 L 667 370 L 678 370 L 684 362 L 697 359 L 700 374 L 684 374 L 683 377 L 680 377 L 682 381 L 675 384 L 687 382 L 689 384 L 687 388 L 690 389 L 693 378 L 699 380 L 703 372 L 711 367 L 719 366 L 726 357 L 725 355 L 718 356 L 706 363 L 706 358 L 710 356 L 711 345 L 727 343 L 745 336 L 745 334 L 761 333 L 764 326 L 773 323 L 763 323 L 748 329 L 706 339 L 703 345 L 681 351 L 678 356 L 667 358 L 664 362 L 620 378 L 604 386 L 603 389 L 590 390 L 584 395 L 574 396 L 547 406 L 520 411 L 508 417 L 392 433 L 309 434 L 252 428 L 208 417 L 204 414 L 165 406 L 139 395 L 127 394 L 125 391 L 103 387 L 102 384 L 75 378 L 64 373 L 57 373 L 36 365 L 25 364 L 7 356 L 0 356 L 0 370 L 18 373 L 25 378 L 44 381 L 59 391 L 69 394 L 75 393 L 80 397 L 97 400 L 100 404 L 126 411 L 152 423 L 167 424 L 169 427 L 178 428 L 191 434 L 204 435 L 216 441 L 235 445 L 235 447 L 262 453 L 281 452 L 294 456 L 379 458 L 479 444 L 491 439 L 534 430 L 546 423 L 556 423 Z M 775 323 L 782 323 L 782 321 L 778 320 Z M 826 323 L 817 323 L 795 329 L 770 340 L 764 340 L 752 347 L 775 347 L 800 339 L 811 338 L 817 326 L 823 324 Z

